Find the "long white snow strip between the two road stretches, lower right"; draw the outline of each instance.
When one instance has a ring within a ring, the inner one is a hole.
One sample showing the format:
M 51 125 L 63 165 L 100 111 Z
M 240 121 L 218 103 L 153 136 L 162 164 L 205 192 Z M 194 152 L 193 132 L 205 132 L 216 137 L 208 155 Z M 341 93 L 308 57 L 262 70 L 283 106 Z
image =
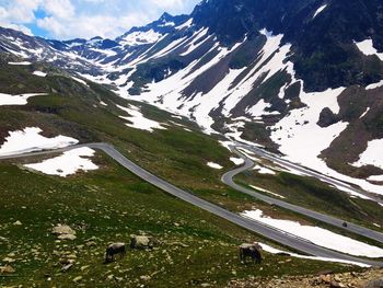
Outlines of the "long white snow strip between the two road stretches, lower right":
M 323 228 L 303 226 L 299 222 L 290 220 L 272 219 L 265 216 L 264 212 L 258 209 L 244 211 L 241 215 L 243 217 L 256 220 L 278 230 L 311 241 L 312 243 L 322 247 L 350 254 L 353 256 L 364 256 L 371 258 L 383 257 L 383 250 L 380 247 L 372 246 L 363 242 L 334 233 Z

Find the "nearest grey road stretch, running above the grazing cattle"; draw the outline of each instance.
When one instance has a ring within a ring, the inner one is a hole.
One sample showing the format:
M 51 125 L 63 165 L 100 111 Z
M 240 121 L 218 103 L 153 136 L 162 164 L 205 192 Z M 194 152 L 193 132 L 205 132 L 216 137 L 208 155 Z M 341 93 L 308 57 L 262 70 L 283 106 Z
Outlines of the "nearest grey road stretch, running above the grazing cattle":
M 211 204 L 207 200 L 204 200 L 188 192 L 185 192 L 171 183 L 160 178 L 159 176 L 153 175 L 149 171 L 140 168 L 139 165 L 135 164 L 130 160 L 128 160 L 125 155 L 123 155 L 119 151 L 117 151 L 113 146 L 108 143 L 88 143 L 88 145 L 77 145 L 63 149 L 57 149 L 51 151 L 42 151 L 42 152 L 33 152 L 33 153 L 25 153 L 25 154 L 18 154 L 18 155 L 5 155 L 0 157 L 0 160 L 7 160 L 7 159 L 18 159 L 18 158 L 26 158 L 26 157 L 33 157 L 33 155 L 44 155 L 44 154 L 53 154 L 63 151 L 69 151 L 76 148 L 81 147 L 89 147 L 93 149 L 101 150 L 105 152 L 107 155 L 109 155 L 112 159 L 114 159 L 116 162 L 118 162 L 120 165 L 129 170 L 131 173 L 136 174 L 143 181 L 156 186 L 158 188 L 169 193 L 170 195 L 173 195 L 176 198 L 179 198 L 186 203 L 189 203 L 198 208 L 201 208 L 206 211 L 209 211 L 218 217 L 221 217 L 234 224 L 237 224 L 244 229 L 247 229 L 256 234 L 260 234 L 265 238 L 268 238 L 279 244 L 286 245 L 288 247 L 291 247 L 293 250 L 303 252 L 307 255 L 324 257 L 324 258 L 332 258 L 332 260 L 340 260 L 344 262 L 351 262 L 351 263 L 361 263 L 370 266 L 379 266 L 383 267 L 383 262 L 380 261 L 373 261 L 373 260 L 365 260 L 365 258 L 359 258 L 356 256 L 343 254 L 336 251 L 327 250 L 324 247 L 321 247 L 318 245 L 313 244 L 310 241 L 306 241 L 304 239 L 294 237 L 292 234 L 286 233 L 283 231 L 280 231 L 278 229 L 275 229 L 272 227 L 266 226 L 262 222 L 257 222 L 247 218 L 243 218 L 236 214 L 233 214 L 231 211 L 228 211 L 214 204 Z M 246 161 L 246 165 L 248 165 L 249 162 Z M 245 166 L 246 166 L 245 165 Z M 242 168 L 241 168 L 242 169 Z M 239 172 L 240 173 L 240 172 Z M 234 173 L 235 174 L 235 173 Z M 339 221 L 339 220 L 338 220 Z

